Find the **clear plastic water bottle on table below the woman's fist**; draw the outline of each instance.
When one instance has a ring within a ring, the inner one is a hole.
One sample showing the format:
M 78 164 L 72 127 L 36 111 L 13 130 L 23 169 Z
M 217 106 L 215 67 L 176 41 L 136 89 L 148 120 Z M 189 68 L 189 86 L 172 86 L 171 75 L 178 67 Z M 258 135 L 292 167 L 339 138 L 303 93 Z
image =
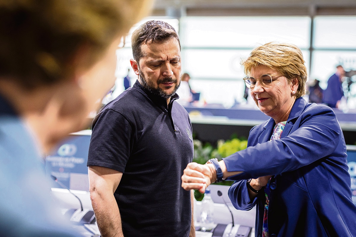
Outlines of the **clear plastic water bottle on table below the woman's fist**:
M 210 190 L 205 189 L 205 195 L 201 200 L 200 226 L 202 231 L 209 231 L 215 227 L 214 224 L 214 202 L 211 199 Z

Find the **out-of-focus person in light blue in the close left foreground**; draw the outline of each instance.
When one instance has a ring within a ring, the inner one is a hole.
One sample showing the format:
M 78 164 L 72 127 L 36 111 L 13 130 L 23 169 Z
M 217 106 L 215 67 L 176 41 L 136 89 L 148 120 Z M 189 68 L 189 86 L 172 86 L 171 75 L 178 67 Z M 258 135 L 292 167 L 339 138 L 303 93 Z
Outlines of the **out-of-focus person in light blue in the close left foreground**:
M 150 6 L 0 1 L 0 236 L 72 236 L 50 196 L 43 157 L 87 127 L 114 84 L 121 37 Z

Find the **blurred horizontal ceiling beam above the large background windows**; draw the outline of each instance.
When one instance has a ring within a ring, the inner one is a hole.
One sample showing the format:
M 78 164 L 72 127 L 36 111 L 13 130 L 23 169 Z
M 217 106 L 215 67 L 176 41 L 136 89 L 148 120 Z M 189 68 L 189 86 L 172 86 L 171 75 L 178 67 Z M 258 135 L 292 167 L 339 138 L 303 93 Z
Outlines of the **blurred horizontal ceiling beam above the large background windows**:
M 310 9 L 314 9 L 310 11 Z M 156 0 L 153 16 L 356 15 L 355 0 Z

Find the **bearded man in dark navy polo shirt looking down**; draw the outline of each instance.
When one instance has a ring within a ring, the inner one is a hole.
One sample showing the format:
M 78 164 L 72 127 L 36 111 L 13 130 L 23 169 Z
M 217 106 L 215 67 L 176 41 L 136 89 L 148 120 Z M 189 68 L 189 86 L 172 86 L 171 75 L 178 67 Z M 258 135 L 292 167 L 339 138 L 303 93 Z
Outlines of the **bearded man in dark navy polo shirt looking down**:
M 101 236 L 195 236 L 193 196 L 180 187 L 193 139 L 187 111 L 174 102 L 178 35 L 148 21 L 133 32 L 132 53 L 138 80 L 93 121 L 87 165 Z

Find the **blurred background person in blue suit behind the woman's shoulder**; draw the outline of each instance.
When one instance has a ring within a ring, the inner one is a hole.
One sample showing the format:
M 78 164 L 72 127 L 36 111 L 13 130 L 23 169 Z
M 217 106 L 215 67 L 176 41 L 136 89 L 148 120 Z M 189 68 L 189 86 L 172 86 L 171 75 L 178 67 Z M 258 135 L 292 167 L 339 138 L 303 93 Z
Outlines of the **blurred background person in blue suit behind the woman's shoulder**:
M 330 76 L 328 86 L 323 92 L 323 103 L 331 108 L 339 108 L 341 98 L 344 96 L 342 89 L 342 78 L 345 70 L 341 65 L 336 66 L 336 72 Z

